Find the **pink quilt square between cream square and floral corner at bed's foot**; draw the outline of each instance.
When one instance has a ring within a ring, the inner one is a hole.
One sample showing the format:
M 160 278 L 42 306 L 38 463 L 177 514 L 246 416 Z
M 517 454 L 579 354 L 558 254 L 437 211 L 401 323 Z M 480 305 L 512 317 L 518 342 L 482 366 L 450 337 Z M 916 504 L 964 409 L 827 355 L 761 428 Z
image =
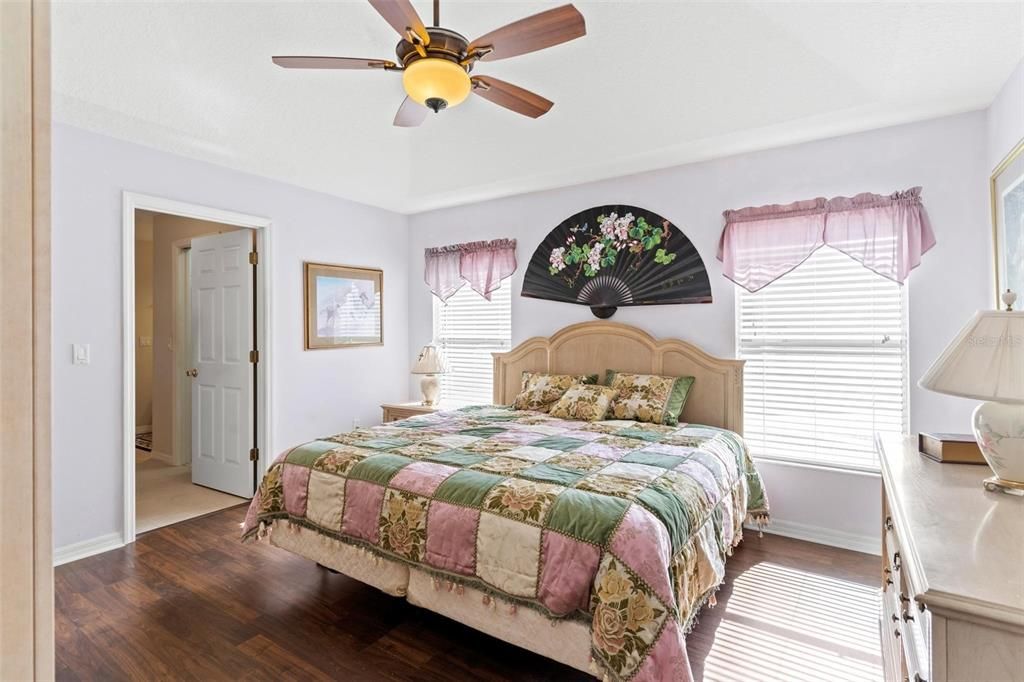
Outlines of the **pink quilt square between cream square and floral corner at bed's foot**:
M 554 530 L 544 531 L 544 566 L 537 596 L 556 615 L 590 605 L 590 590 L 601 560 L 600 548 Z

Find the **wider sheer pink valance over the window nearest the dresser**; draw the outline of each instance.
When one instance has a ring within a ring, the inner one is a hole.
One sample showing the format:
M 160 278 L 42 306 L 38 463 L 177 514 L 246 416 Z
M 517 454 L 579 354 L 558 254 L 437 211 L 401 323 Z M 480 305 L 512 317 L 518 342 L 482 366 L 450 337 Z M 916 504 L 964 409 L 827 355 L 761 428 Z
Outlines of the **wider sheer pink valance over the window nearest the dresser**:
M 904 282 L 935 246 L 921 187 L 888 197 L 811 199 L 726 211 L 718 259 L 725 276 L 755 292 L 824 245 L 895 282 Z

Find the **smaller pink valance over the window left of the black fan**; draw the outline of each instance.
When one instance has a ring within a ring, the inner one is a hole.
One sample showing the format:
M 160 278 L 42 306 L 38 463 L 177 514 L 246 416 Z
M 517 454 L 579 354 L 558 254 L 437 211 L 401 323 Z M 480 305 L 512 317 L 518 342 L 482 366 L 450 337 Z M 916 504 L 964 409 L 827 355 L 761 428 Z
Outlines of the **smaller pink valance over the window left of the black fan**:
M 433 247 L 425 250 L 424 258 L 423 279 L 437 298 L 446 301 L 468 284 L 489 301 L 490 292 L 515 272 L 515 240 Z

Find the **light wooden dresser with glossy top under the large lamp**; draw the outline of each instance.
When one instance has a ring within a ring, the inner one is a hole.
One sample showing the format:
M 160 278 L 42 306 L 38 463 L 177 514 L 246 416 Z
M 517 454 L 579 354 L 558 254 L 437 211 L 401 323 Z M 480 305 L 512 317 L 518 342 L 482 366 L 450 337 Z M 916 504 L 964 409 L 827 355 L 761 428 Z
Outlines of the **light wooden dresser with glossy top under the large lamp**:
M 1024 498 L 881 437 L 887 682 L 1024 682 Z

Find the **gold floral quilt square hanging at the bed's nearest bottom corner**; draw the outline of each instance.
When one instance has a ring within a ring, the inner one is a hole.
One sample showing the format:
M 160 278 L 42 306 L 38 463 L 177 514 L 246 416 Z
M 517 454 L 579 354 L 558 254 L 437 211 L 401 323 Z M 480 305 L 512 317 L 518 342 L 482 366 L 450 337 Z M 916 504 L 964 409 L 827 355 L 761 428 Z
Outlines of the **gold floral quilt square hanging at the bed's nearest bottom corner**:
M 595 653 L 629 679 L 657 640 L 670 610 L 613 554 L 606 553 L 591 597 Z

